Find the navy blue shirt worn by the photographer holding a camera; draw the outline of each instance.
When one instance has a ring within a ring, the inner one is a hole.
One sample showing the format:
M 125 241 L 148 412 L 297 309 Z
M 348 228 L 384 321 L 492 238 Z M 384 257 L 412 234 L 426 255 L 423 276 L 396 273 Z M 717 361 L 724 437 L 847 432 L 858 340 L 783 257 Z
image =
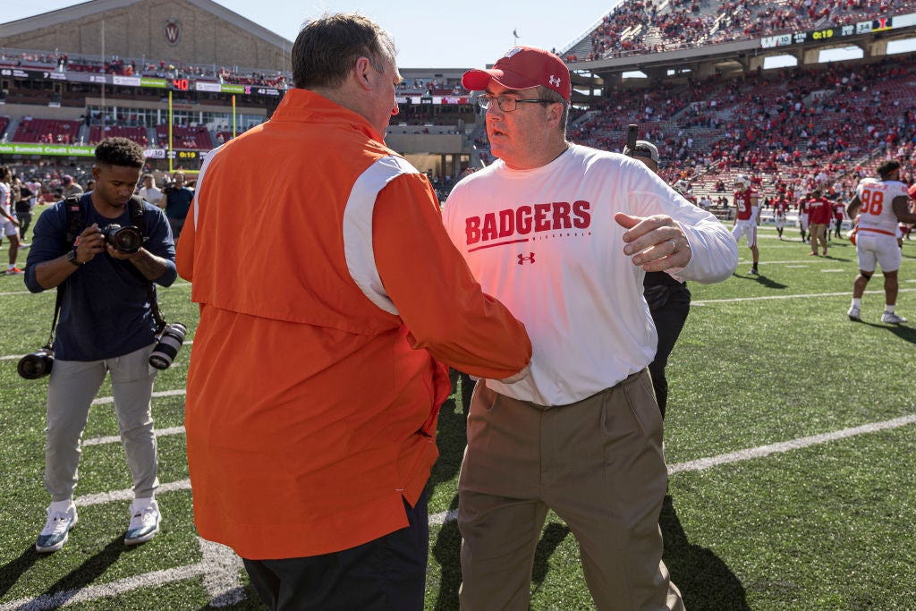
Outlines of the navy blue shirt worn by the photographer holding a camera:
M 96 212 L 89 193 L 82 196 L 80 203 L 86 213 L 86 226 L 131 224 L 129 204 L 120 218 L 109 219 Z M 169 222 L 158 207 L 147 202 L 143 206 L 149 237 L 144 248 L 169 262 L 169 267 L 154 282 L 168 287 L 178 276 Z M 36 265 L 64 254 L 66 235 L 67 211 L 64 203 L 58 202 L 42 213 L 35 224 L 25 277 L 26 286 L 33 293 L 44 290 L 36 279 Z M 55 357 L 64 361 L 99 361 L 152 344 L 156 321 L 147 284 L 133 263 L 104 252 L 74 271 L 58 288 L 63 291 L 63 302 L 54 341 Z M 51 316 L 49 312 L 49 320 Z

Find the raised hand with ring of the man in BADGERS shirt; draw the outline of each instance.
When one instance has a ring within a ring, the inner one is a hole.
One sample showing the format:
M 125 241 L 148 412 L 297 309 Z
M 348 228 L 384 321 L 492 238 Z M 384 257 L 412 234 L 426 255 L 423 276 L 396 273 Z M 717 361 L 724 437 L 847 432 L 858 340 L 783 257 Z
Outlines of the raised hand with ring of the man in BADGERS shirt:
M 614 220 L 627 229 L 624 254 L 632 256 L 633 265 L 646 271 L 664 271 L 686 267 L 690 262 L 690 243 L 671 216 L 616 213 Z

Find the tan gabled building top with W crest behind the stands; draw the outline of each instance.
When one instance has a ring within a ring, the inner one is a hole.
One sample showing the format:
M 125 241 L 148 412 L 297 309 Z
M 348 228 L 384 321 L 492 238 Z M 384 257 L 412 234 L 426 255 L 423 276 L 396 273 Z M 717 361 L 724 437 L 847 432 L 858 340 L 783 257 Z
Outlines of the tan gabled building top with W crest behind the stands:
M 100 45 L 125 58 L 281 69 L 292 42 L 212 0 L 91 0 L 0 24 L 5 49 L 99 55 Z

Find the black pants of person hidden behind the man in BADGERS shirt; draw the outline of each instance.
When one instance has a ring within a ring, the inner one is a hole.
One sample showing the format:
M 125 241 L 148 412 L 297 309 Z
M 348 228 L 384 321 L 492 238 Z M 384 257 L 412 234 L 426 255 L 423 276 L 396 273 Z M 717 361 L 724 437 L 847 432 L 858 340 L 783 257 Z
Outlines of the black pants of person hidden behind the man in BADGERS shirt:
M 690 313 L 690 289 L 687 289 L 686 284 L 647 286 L 646 301 L 649 303 L 655 329 L 659 333 L 659 348 L 655 353 L 655 360 L 649 363 L 649 373 L 652 375 L 652 387 L 659 402 L 661 418 L 664 418 L 668 405 L 668 378 L 665 377 L 665 366 L 668 365 L 668 356 L 671 355 L 674 343 L 678 341 L 684 322 L 687 321 L 687 314 Z

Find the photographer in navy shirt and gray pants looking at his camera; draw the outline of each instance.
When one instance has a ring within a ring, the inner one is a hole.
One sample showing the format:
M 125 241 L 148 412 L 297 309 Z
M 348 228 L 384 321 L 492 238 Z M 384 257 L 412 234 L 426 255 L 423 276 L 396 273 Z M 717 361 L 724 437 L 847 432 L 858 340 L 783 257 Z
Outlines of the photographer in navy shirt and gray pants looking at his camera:
M 130 202 L 143 164 L 143 149 L 135 142 L 105 138 L 95 149 L 95 189 L 79 198 L 82 224 L 73 226 L 73 218 L 80 217 L 74 217 L 72 208 L 68 213 L 65 200 L 43 213 L 35 225 L 26 286 L 36 293 L 57 287 L 60 300 L 45 433 L 45 487 L 52 502 L 35 544 L 38 551 L 60 550 L 76 524 L 72 499 L 80 439 L 90 404 L 109 371 L 134 485 L 125 543 L 140 543 L 158 532 L 158 505 L 153 497 L 158 459 L 150 413 L 156 370 L 148 364 L 156 321 L 150 283 L 168 287 L 177 272 L 165 215 L 152 204 L 140 208 Z M 126 253 L 106 241 L 101 228 L 141 225 L 133 222 L 132 208 L 142 213 L 147 240 L 135 252 Z M 67 244 L 68 229 L 78 235 L 72 244 Z

